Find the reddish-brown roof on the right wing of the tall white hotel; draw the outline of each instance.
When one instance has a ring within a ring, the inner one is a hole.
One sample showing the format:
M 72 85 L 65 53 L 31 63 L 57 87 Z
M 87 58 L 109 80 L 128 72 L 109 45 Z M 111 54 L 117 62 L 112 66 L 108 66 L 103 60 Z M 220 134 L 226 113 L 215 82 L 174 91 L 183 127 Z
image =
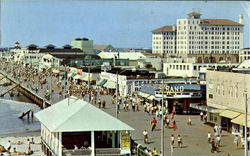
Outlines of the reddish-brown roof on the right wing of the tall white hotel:
M 200 25 L 202 26 L 244 26 L 243 24 L 228 20 L 228 19 L 203 19 Z

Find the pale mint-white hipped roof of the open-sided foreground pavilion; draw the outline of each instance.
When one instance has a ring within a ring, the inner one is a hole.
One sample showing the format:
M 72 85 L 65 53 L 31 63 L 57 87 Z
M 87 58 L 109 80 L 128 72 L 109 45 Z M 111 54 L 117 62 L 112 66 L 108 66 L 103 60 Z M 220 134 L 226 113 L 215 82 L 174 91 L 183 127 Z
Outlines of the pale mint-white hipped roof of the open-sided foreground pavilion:
M 74 96 L 36 113 L 35 116 L 51 132 L 134 130 L 108 113 Z

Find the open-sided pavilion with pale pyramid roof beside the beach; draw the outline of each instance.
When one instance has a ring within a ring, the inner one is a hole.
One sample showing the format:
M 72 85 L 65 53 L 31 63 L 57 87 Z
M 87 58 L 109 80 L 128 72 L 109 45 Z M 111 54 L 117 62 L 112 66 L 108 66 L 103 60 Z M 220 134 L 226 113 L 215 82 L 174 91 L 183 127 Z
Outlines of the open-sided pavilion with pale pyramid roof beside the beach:
M 38 113 L 42 150 L 47 156 L 128 155 L 127 124 L 92 104 L 69 97 Z

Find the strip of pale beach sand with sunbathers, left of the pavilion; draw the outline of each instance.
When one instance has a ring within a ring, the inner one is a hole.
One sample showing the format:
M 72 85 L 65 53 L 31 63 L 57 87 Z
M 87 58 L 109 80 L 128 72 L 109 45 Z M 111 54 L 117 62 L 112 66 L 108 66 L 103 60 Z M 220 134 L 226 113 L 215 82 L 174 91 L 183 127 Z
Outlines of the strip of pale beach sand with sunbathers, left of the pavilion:
M 27 139 L 29 139 L 31 141 L 31 138 L 34 138 L 34 142 L 35 144 L 30 144 L 31 150 L 34 151 L 34 154 L 32 154 L 33 156 L 45 156 L 42 152 L 41 149 L 41 137 L 39 135 L 30 135 L 30 136 L 6 136 L 6 137 L 0 137 L 0 145 L 4 146 L 5 148 L 7 148 L 7 144 L 8 141 L 10 140 L 12 143 L 16 143 L 18 141 L 23 142 L 23 144 L 21 145 L 17 145 L 17 144 L 11 144 L 11 155 L 13 154 L 13 149 L 14 147 L 16 148 L 16 151 L 18 152 L 28 152 L 28 141 Z M 8 155 L 7 153 L 4 153 L 4 155 Z

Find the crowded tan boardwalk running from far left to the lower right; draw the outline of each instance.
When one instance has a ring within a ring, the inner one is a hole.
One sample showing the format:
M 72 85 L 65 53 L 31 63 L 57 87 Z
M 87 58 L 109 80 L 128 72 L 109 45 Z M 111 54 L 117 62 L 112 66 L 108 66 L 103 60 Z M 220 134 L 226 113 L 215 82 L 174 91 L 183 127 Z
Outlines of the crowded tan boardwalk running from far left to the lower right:
M 50 84 L 52 84 L 52 88 L 54 88 L 54 92 L 52 93 L 52 98 L 50 100 L 51 103 L 56 103 L 62 100 L 66 92 L 70 87 L 66 85 L 65 90 L 62 89 L 62 86 L 65 84 L 65 79 L 58 79 L 57 77 L 50 77 L 45 75 L 35 74 L 34 70 L 23 68 L 18 65 L 12 65 L 10 63 L 0 64 L 0 69 L 9 73 L 10 76 L 13 76 L 18 82 L 22 85 L 30 88 L 34 92 L 36 92 L 39 96 L 45 98 L 46 92 L 50 92 Z M 28 69 L 28 70 L 27 70 Z M 13 72 L 14 71 L 14 72 Z M 19 71 L 19 72 L 18 72 Z M 18 76 L 20 74 L 20 76 Z M 46 83 L 41 86 L 39 81 L 39 76 L 43 78 Z M 70 81 L 67 81 L 66 84 L 70 84 Z M 59 89 L 56 89 L 59 86 Z M 36 89 L 37 88 L 37 89 Z M 60 96 L 59 92 L 63 91 L 63 95 Z M 81 94 L 76 94 L 79 98 L 82 98 Z M 106 101 L 106 108 L 103 109 L 105 112 L 115 116 L 115 105 L 111 104 L 111 96 L 109 95 L 99 95 L 98 99 Z M 84 98 L 87 100 L 87 96 Z M 97 106 L 97 105 L 95 105 Z M 98 107 L 98 106 L 97 106 Z M 132 132 L 132 138 L 140 144 L 143 144 L 143 135 L 142 132 L 146 129 L 149 132 L 149 144 L 147 145 L 150 149 L 154 147 L 157 150 L 160 150 L 161 147 L 161 131 L 160 131 L 160 121 L 158 121 L 158 125 L 156 131 L 150 132 L 150 122 L 153 118 L 152 115 L 148 115 L 144 111 L 142 111 L 140 105 L 140 111 L 133 112 L 130 110 L 124 112 L 121 110 L 119 114 L 119 119 L 132 126 L 135 131 Z M 192 119 L 192 126 L 187 125 L 188 120 L 187 115 L 177 115 L 175 120 L 178 125 L 177 131 L 173 131 L 173 129 L 165 128 L 165 155 L 171 155 L 170 153 L 170 135 L 174 134 L 175 139 L 177 139 L 177 135 L 180 134 L 183 138 L 183 148 L 177 147 L 177 140 L 175 140 L 174 145 L 174 156 L 210 156 L 210 155 L 218 155 L 218 156 L 227 156 L 230 153 L 232 156 L 241 156 L 244 153 L 243 149 L 235 149 L 233 143 L 233 135 L 229 133 L 223 133 L 222 143 L 220 147 L 219 153 L 211 153 L 210 148 L 211 145 L 207 143 L 207 133 L 208 131 L 213 132 L 212 127 L 210 125 L 203 124 L 198 116 L 190 116 Z

